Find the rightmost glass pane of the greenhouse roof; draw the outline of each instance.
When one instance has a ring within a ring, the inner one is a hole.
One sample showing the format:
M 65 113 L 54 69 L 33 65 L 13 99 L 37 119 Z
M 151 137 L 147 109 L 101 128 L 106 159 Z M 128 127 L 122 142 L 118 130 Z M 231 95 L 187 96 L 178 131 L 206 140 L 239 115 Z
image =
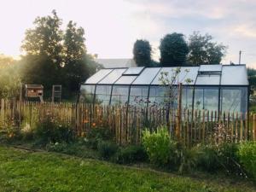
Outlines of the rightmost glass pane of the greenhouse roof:
M 224 66 L 221 76 L 222 85 L 248 85 L 246 66 Z

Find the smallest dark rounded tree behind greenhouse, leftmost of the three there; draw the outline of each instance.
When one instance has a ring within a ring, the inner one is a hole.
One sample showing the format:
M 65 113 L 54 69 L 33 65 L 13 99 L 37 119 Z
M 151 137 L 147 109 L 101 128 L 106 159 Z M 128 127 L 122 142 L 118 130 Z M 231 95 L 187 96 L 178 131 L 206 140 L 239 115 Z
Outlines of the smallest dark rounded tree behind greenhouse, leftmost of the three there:
M 151 45 L 147 40 L 137 39 L 133 45 L 133 59 L 138 67 L 151 66 Z

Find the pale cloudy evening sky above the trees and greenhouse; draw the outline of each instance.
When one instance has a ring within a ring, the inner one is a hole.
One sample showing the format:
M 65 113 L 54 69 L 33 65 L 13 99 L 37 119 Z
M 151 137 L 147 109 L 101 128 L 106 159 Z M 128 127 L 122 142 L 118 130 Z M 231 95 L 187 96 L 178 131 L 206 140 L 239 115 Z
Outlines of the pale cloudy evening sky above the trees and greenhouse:
M 99 58 L 131 58 L 137 39 L 147 39 L 159 59 L 160 39 L 181 32 L 209 33 L 227 45 L 222 63 L 256 68 L 256 0 L 0 0 L 0 53 L 19 56 L 26 29 L 37 16 L 55 9 L 63 21 L 85 31 L 90 54 Z

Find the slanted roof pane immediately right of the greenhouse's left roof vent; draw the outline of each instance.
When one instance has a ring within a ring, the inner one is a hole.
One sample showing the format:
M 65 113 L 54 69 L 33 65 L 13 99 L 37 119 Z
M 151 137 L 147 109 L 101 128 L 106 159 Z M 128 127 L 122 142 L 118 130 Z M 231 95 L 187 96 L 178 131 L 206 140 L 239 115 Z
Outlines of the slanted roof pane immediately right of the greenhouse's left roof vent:
M 159 71 L 160 67 L 145 68 L 132 84 L 150 84 Z

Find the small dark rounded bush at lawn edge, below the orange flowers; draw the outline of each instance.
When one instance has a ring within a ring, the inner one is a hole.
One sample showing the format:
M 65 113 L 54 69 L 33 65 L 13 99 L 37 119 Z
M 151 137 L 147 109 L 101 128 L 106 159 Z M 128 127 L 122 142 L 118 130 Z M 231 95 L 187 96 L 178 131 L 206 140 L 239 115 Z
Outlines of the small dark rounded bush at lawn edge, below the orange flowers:
M 118 150 L 116 144 L 106 141 L 99 142 L 97 148 L 103 160 L 109 160 Z

